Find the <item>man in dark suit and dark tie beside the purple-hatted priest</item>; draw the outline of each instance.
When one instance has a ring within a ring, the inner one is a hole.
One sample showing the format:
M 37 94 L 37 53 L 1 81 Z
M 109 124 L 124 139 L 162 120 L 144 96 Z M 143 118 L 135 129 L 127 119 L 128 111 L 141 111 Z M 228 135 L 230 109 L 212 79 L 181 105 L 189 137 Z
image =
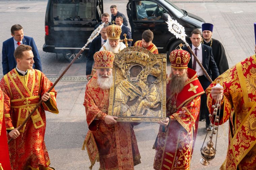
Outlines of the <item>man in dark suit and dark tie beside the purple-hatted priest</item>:
M 213 58 L 212 47 L 201 44 L 201 40 L 202 40 L 201 31 L 198 29 L 193 30 L 191 32 L 190 40 L 192 44 L 190 44 L 189 46 L 191 47 L 191 49 L 193 50 L 193 52 L 195 53 L 199 61 L 202 63 L 203 68 L 206 70 L 206 72 L 214 81 L 219 76 L 219 70 Z M 187 47 L 184 47 L 183 50 L 186 50 L 190 53 Z M 211 82 L 206 78 L 201 67 L 196 62 L 196 60 L 194 60 L 194 57 L 193 55 L 191 55 L 191 53 L 190 53 L 190 56 L 191 58 L 189 60 L 188 67 L 196 71 L 198 80 L 200 81 L 203 87 L 203 90 L 205 90 L 211 84 Z M 206 100 L 207 100 L 206 94 L 203 94 L 201 96 L 199 120 L 204 121 L 206 119 L 206 128 L 207 128 L 210 125 L 210 118 L 208 116 L 209 110 L 207 108 Z

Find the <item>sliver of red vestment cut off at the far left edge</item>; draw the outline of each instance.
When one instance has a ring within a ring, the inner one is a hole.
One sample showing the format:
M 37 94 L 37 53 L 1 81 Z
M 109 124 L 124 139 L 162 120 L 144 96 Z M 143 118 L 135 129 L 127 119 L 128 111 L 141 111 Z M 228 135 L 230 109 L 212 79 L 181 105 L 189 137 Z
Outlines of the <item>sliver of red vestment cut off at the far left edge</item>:
M 0 169 L 11 170 L 4 119 L 4 93 L 0 89 Z

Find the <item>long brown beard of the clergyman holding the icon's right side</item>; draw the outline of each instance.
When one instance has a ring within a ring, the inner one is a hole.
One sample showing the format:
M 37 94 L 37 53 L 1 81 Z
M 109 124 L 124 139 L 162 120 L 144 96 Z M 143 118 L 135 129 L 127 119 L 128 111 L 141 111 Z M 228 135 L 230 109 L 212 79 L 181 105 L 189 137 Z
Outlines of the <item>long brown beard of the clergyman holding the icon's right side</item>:
M 184 73 L 182 76 L 174 75 L 171 72 L 171 82 L 170 82 L 170 91 L 171 95 L 178 94 L 182 91 L 185 86 L 186 81 L 188 80 L 188 74 Z

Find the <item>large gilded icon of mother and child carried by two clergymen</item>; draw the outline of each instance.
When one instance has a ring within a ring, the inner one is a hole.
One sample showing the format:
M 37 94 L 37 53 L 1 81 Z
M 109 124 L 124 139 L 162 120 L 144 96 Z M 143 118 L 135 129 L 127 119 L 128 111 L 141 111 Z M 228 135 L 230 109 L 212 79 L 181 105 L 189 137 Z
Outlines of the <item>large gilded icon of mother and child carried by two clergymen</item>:
M 166 54 L 128 47 L 116 54 L 108 113 L 117 121 L 158 122 L 165 118 Z

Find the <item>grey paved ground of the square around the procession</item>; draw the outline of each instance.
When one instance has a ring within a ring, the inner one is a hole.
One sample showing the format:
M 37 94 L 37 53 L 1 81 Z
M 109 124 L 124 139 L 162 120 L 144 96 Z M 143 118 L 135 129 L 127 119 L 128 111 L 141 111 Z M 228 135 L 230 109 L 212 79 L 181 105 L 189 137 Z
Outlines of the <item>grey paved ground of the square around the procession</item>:
M 253 22 L 255 22 L 254 1 L 228 0 L 222 3 L 210 0 L 173 1 L 178 7 L 202 17 L 206 22 L 214 24 L 213 38 L 218 39 L 225 48 L 229 66 L 253 54 L 255 45 Z M 112 4 L 118 5 L 120 12 L 126 13 L 127 1 L 104 1 L 104 12 L 109 11 Z M 47 76 L 57 76 L 69 64 L 62 54 L 45 53 L 42 51 L 44 43 L 44 17 L 46 1 L 2 1 L 0 0 L 0 47 L 2 42 L 10 38 L 10 27 L 21 24 L 24 34 L 33 37 L 42 61 L 43 72 Z M 17 9 L 29 7 L 28 9 Z M 75 41 L 75 40 L 74 40 Z M 1 48 L 0 48 L 1 52 Z M 0 58 L 1 60 L 1 58 Z M 85 76 L 86 63 L 74 63 L 66 73 L 67 76 Z M 167 70 L 170 70 L 169 65 Z M 2 67 L 0 68 L 2 75 Z M 82 144 L 88 131 L 85 109 L 83 106 L 85 81 L 60 81 L 56 86 L 58 115 L 47 113 L 45 143 L 51 159 L 51 166 L 56 170 L 88 169 L 90 161 L 86 151 L 82 151 Z M 134 127 L 141 154 L 141 164 L 135 169 L 153 169 L 155 151 L 152 146 L 158 132 L 156 123 L 141 123 Z M 217 170 L 226 156 L 228 145 L 228 123 L 220 126 L 217 154 L 210 166 L 200 164 L 200 148 L 205 137 L 205 123 L 199 122 L 198 134 L 194 153 L 191 160 L 191 170 Z M 207 137 L 206 140 L 209 140 Z M 93 169 L 98 169 L 96 163 Z

